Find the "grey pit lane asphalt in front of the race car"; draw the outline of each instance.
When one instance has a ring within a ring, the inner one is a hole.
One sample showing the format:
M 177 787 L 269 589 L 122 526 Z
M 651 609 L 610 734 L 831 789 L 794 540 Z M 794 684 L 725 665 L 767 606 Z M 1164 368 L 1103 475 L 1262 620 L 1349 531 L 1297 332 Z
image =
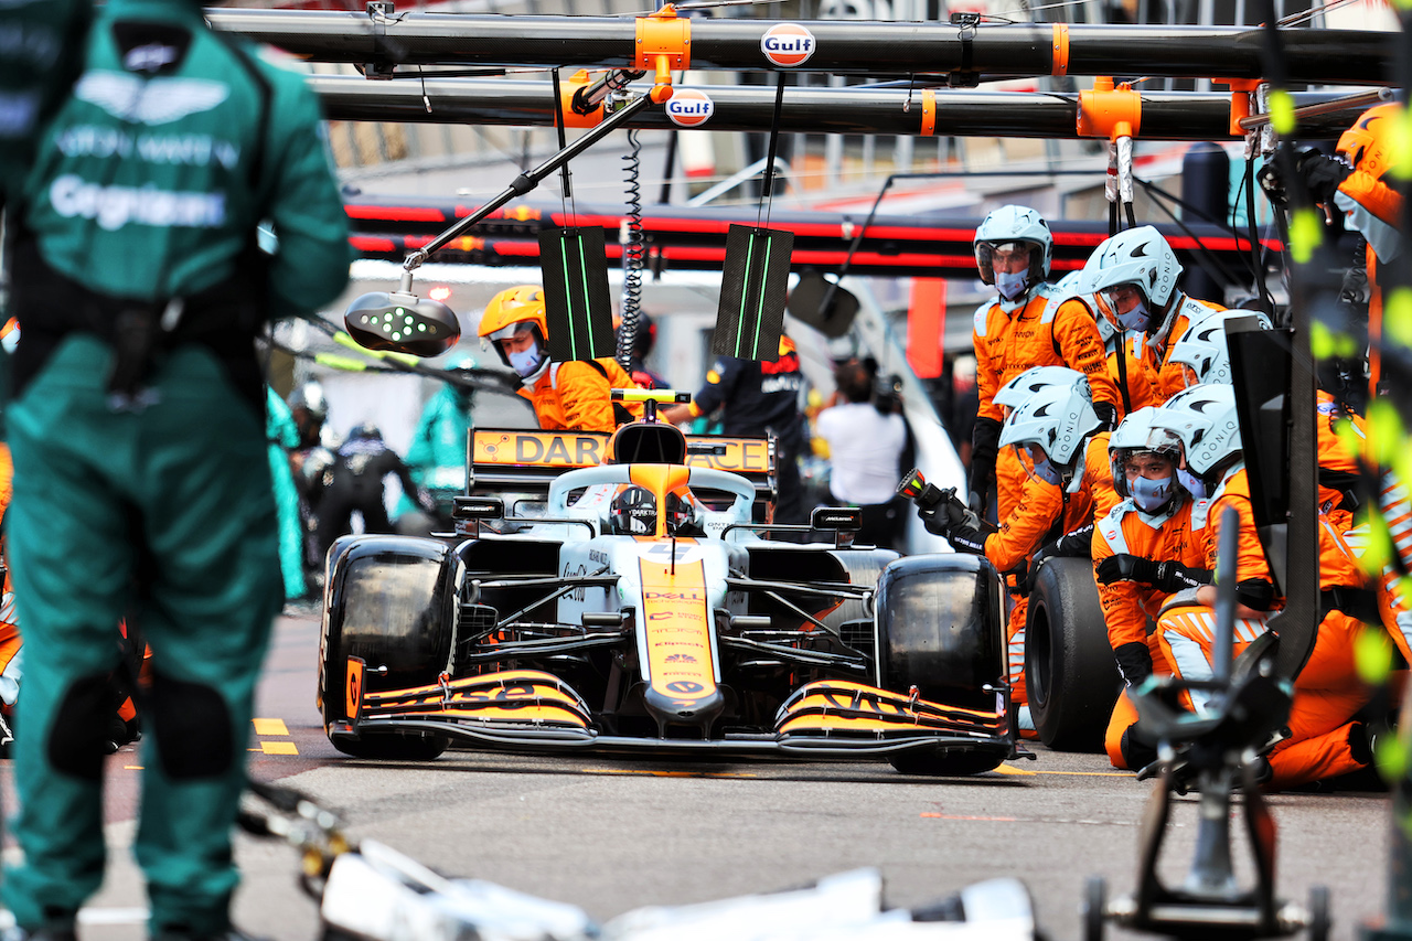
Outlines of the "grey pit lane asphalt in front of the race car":
M 318 633 L 312 615 L 277 625 L 256 712 L 268 722 L 251 736 L 251 774 L 304 790 L 337 810 L 352 836 L 390 844 L 448 875 L 573 903 L 597 918 L 786 889 L 860 866 L 880 868 L 888 903 L 901 906 L 1018 876 L 1056 940 L 1079 937 L 1087 876 L 1106 876 L 1110 892 L 1135 883 L 1149 786 L 1096 754 L 1036 747 L 1035 762 L 945 780 L 871 763 L 476 753 L 431 764 L 354 762 L 329 746 L 313 708 Z M 127 852 L 140 762 L 140 752 L 126 749 L 109 764 L 109 879 L 85 913 L 85 941 L 144 937 L 141 883 Z M 13 807 L 8 762 L 0 774 Z M 1353 938 L 1384 909 L 1387 795 L 1279 794 L 1271 805 L 1279 896 L 1303 901 L 1310 886 L 1327 884 L 1334 937 Z M 1192 855 L 1195 798 L 1179 800 L 1173 822 L 1163 870 L 1175 880 Z M 1244 846 L 1237 844 L 1243 863 Z M 241 836 L 237 855 L 239 924 L 277 941 L 315 938 L 316 906 L 295 884 L 294 851 Z

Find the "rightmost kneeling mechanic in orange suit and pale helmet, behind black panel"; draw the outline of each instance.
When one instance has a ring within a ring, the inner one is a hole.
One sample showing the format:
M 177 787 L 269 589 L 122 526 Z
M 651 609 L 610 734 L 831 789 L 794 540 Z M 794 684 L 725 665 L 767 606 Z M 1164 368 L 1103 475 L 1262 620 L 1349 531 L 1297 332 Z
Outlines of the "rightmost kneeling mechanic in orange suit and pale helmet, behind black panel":
M 1196 386 L 1173 396 L 1152 418 L 1154 434 L 1168 432 L 1182 449 L 1183 485 L 1213 495 L 1206 527 L 1206 567 L 1216 565 L 1221 514 L 1237 510 L 1236 653 L 1267 633 L 1267 619 L 1281 608 L 1265 551 L 1255 530 L 1245 472 L 1236 394 L 1230 386 Z M 1324 616 L 1317 641 L 1295 680 L 1289 721 L 1269 753 L 1272 787 L 1293 787 L 1357 771 L 1371 760 L 1367 729 L 1354 715 L 1371 697 L 1358 678 L 1354 643 L 1364 630 L 1358 616 L 1377 620 L 1372 592 L 1360 589 L 1357 560 L 1333 521 L 1320 514 L 1319 582 Z M 1162 610 L 1156 636 L 1172 668 L 1185 680 L 1214 675 L 1216 588 L 1203 585 L 1173 598 Z M 1192 691 L 1202 712 L 1209 694 Z

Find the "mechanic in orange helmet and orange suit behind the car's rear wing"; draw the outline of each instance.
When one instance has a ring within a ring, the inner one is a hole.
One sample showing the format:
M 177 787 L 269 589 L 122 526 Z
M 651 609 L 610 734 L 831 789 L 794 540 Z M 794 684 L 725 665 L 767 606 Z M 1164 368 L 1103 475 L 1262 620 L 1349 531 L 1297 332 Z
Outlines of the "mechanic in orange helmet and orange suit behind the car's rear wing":
M 637 389 L 617 360 L 549 359 L 544 291 L 534 284 L 505 288 L 490 298 L 480 316 L 480 336 L 520 376 L 520 394 L 534 404 L 545 431 L 613 431 L 631 418 L 633 413 L 614 406 L 610 394 L 614 389 Z

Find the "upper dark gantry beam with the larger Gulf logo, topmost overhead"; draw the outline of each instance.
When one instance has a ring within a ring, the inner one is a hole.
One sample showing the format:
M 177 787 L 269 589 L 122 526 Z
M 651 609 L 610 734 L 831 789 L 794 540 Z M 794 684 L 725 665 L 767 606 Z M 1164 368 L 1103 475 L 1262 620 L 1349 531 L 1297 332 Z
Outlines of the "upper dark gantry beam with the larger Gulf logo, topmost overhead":
M 856 20 L 473 16 L 294 10 L 208 10 L 217 30 L 319 62 L 397 65 L 634 68 L 652 49 L 672 68 L 802 71 L 834 75 L 935 75 L 977 79 L 1039 75 L 1236 78 L 1264 75 L 1255 28 L 1021 23 L 874 23 Z M 671 31 L 671 30 L 669 30 Z M 1288 81 L 1385 85 L 1387 32 L 1281 30 Z

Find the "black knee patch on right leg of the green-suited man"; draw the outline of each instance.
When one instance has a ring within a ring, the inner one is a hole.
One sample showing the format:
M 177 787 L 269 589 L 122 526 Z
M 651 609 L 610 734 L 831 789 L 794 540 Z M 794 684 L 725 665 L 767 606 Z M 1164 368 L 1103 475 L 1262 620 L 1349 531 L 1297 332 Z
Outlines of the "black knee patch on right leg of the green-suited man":
M 226 698 L 212 687 L 152 671 L 152 738 L 174 781 L 222 777 L 234 764 Z

